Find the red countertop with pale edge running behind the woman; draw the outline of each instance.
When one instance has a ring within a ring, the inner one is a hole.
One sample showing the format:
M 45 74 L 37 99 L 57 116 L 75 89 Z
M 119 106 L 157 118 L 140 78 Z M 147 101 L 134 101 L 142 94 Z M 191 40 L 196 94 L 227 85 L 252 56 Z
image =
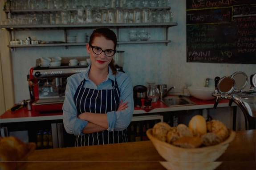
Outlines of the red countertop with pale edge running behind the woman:
M 181 110 L 191 110 L 191 109 L 204 109 L 213 108 L 215 100 L 199 100 L 194 97 L 189 97 L 191 101 L 195 102 L 195 105 L 191 106 L 177 106 L 177 107 L 167 107 L 164 103 L 158 100 L 152 103 L 152 108 L 141 109 L 140 107 L 134 107 L 135 114 L 145 114 L 145 113 L 158 113 L 165 111 L 181 111 Z M 222 99 L 219 101 L 217 107 L 228 107 L 228 100 Z M 38 120 L 58 120 L 62 119 L 62 112 L 44 112 L 40 113 L 38 111 L 28 111 L 26 108 L 21 108 L 17 111 L 5 111 L 4 114 L 0 115 L 0 123 L 11 123 L 11 122 L 25 122 L 25 121 L 38 121 Z

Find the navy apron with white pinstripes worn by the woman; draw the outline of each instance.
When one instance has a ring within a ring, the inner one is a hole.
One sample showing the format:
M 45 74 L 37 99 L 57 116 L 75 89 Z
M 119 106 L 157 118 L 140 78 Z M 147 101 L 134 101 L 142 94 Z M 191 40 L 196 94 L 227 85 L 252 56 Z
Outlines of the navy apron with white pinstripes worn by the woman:
M 74 95 L 77 114 L 83 112 L 106 114 L 108 111 L 117 111 L 120 99 L 118 84 L 112 81 L 113 89 L 85 88 L 85 79 L 81 81 Z M 75 146 L 102 145 L 110 143 L 128 142 L 126 129 L 122 131 L 100 131 L 85 135 L 77 135 Z

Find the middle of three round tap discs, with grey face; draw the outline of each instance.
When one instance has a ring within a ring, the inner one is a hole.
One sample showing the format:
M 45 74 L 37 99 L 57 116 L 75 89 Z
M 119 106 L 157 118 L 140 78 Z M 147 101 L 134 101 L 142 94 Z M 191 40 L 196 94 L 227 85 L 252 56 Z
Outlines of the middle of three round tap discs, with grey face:
M 235 79 L 235 90 L 243 90 L 248 84 L 248 76 L 242 71 L 234 72 L 231 77 Z

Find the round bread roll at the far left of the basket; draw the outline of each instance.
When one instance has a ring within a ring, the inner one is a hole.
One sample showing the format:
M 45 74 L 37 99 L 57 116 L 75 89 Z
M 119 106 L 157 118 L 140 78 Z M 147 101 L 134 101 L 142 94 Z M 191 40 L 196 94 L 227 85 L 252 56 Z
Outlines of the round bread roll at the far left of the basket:
M 154 137 L 159 140 L 166 142 L 167 141 L 167 132 L 171 129 L 171 126 L 165 122 L 156 123 L 152 129 Z

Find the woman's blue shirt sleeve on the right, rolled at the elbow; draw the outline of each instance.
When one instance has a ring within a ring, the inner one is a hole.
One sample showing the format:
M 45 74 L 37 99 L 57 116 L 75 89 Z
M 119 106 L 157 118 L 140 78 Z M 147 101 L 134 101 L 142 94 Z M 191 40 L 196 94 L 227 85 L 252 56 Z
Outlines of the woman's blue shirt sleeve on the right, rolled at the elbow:
M 107 112 L 107 130 L 109 131 L 126 129 L 131 122 L 134 112 L 133 86 L 130 77 L 126 74 L 121 74 L 117 77 L 117 83 L 120 90 L 120 101 L 128 102 L 128 107 L 123 111 Z

